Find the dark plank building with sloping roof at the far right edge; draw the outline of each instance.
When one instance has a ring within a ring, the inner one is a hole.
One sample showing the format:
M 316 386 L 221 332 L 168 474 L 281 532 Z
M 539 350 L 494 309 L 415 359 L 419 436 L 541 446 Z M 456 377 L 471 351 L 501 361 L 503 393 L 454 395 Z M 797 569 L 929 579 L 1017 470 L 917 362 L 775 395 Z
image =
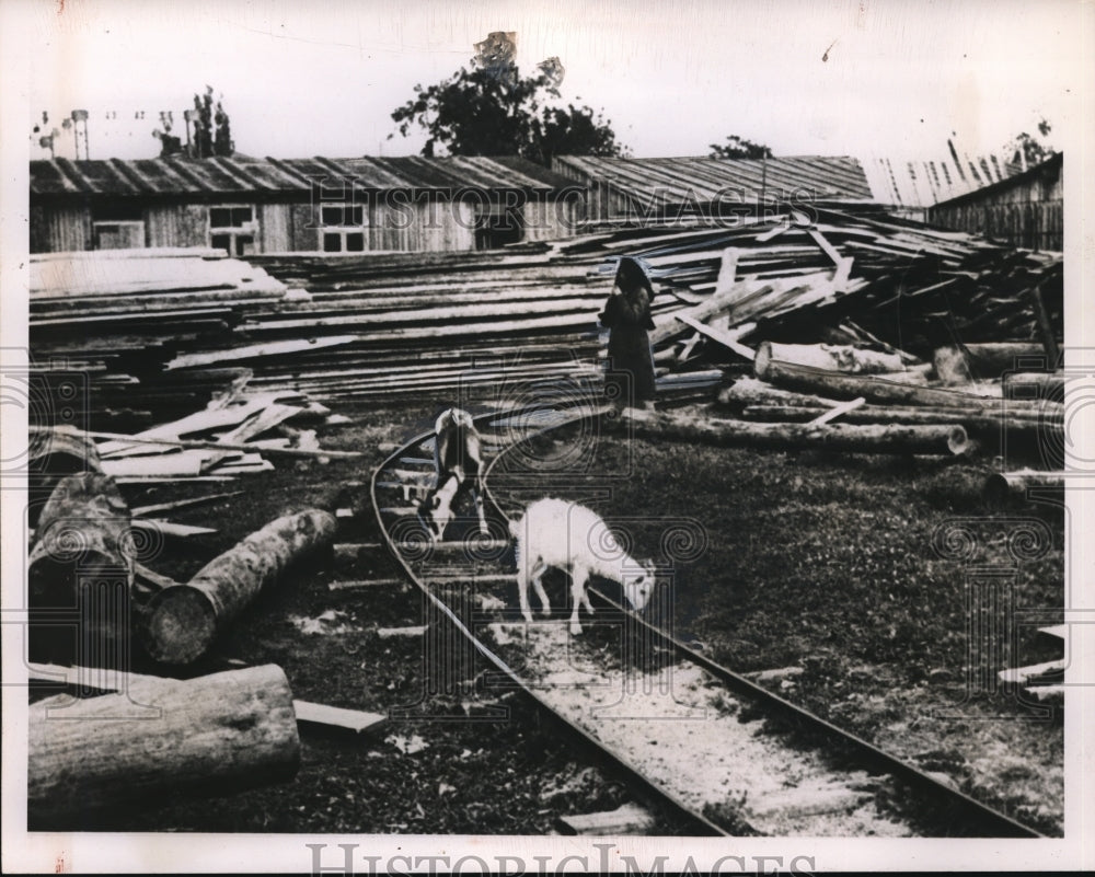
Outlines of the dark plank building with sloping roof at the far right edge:
M 1064 249 L 1064 155 L 936 204 L 929 221 L 1027 250 Z

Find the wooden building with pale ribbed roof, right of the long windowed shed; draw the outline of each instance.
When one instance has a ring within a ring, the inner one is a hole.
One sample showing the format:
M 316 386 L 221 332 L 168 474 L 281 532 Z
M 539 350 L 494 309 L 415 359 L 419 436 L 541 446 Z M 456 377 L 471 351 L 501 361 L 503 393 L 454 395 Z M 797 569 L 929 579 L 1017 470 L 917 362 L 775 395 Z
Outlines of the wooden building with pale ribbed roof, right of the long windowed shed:
M 552 170 L 588 191 L 587 218 L 648 221 L 733 216 L 759 205 L 873 204 L 856 159 L 610 159 L 557 155 Z

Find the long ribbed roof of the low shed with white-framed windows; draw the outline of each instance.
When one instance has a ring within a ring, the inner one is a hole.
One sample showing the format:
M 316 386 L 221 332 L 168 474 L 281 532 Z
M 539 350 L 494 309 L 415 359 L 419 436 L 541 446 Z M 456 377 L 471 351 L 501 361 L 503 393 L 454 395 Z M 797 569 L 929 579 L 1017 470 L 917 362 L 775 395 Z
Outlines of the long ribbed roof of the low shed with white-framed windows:
M 310 192 L 312 181 L 353 178 L 366 189 L 538 189 L 573 186 L 515 155 L 427 159 L 147 159 L 31 162 L 32 195 L 232 195 Z

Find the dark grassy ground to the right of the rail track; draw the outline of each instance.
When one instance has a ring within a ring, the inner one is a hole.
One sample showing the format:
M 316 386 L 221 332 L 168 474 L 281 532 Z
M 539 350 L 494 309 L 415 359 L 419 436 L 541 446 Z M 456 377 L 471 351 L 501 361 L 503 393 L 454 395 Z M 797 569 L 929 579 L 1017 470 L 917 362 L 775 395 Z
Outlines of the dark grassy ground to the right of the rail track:
M 589 505 L 671 569 L 682 638 L 740 672 L 795 668 L 762 684 L 1060 833 L 1060 714 L 996 683 L 1002 667 L 1061 655 L 1005 611 L 1059 622 L 1060 509 L 989 507 L 982 469 L 931 458 L 637 439 L 595 454 L 589 475 L 516 477 L 515 496 L 576 495 L 629 473 Z M 676 551 L 675 530 L 691 533 Z

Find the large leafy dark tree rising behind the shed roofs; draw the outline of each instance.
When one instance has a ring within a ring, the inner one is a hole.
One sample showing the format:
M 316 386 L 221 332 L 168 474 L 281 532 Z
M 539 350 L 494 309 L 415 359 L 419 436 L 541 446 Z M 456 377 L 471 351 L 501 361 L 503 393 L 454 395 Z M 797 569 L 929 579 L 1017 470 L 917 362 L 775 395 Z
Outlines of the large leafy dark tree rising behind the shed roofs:
M 560 99 L 563 67 L 557 58 L 522 77 L 514 60 L 511 41 L 479 44 L 471 68 L 424 88 L 392 113 L 399 134 L 417 127 L 428 134 L 422 154 L 521 155 L 551 166 L 553 155 L 622 155 L 612 123 L 589 106 L 565 108 Z M 508 45 L 507 45 L 508 44 Z M 389 135 L 389 139 L 395 135 Z

